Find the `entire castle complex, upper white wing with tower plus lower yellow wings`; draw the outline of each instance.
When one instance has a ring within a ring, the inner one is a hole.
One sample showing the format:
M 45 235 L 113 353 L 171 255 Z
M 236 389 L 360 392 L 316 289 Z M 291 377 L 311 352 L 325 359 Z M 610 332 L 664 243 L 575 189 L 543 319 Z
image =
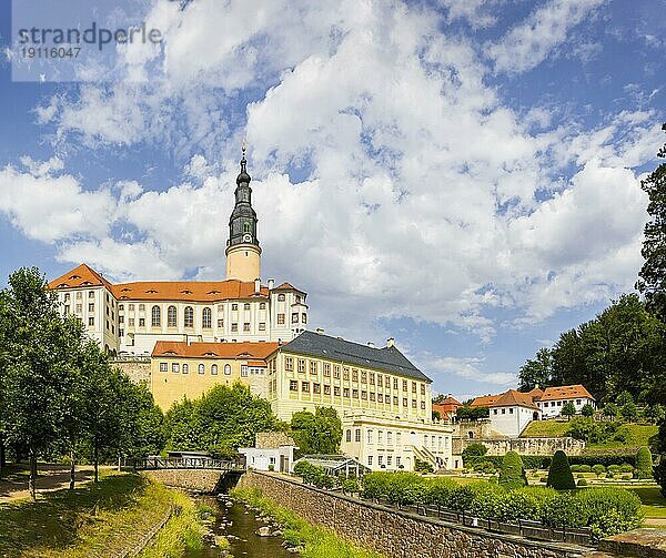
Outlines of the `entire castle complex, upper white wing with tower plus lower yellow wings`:
M 392 338 L 375 348 L 305 331 L 306 293 L 262 283 L 246 165 L 243 151 L 223 281 L 111 283 L 81 264 L 49 283 L 62 314 L 78 316 L 163 410 L 240 382 L 285 422 L 299 410 L 335 408 L 342 452 L 371 469 L 413 470 L 418 460 L 451 468 L 453 427 L 433 422 L 431 379 Z

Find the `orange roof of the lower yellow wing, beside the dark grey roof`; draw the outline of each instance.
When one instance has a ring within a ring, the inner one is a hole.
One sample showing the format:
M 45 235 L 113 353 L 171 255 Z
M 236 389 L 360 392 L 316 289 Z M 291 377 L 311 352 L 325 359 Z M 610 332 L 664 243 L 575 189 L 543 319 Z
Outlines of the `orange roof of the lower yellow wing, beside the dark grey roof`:
M 185 343 L 184 341 L 158 341 L 152 356 L 178 356 L 181 358 L 240 358 L 263 359 L 278 348 L 278 343 Z M 253 364 L 252 366 L 258 366 Z

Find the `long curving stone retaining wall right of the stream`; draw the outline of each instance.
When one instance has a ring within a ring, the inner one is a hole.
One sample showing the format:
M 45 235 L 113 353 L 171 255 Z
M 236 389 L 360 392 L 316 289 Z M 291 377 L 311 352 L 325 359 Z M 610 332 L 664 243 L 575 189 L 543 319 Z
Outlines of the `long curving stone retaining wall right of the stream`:
M 266 498 L 310 524 L 392 558 L 574 558 L 587 550 L 416 516 L 320 490 L 279 474 L 248 471 L 239 486 L 259 488 Z

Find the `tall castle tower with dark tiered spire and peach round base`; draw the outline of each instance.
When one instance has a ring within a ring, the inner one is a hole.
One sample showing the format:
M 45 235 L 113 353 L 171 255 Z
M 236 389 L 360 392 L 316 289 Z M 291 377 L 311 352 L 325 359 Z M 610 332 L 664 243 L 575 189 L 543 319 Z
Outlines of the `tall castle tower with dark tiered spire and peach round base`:
M 252 180 L 246 170 L 245 145 L 236 177 L 235 205 L 229 219 L 226 278 L 251 282 L 260 277 L 261 248 L 256 237 L 256 213 L 252 209 Z

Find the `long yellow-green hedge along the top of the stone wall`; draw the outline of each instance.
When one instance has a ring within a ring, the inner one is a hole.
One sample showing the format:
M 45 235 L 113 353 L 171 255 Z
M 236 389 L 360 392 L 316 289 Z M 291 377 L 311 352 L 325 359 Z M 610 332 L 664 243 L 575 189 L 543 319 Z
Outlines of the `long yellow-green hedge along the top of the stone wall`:
M 363 496 L 396 505 L 438 505 L 502 521 L 531 519 L 553 527 L 591 527 L 593 540 L 635 529 L 642 521 L 640 500 L 623 488 L 508 490 L 485 481 L 458 485 L 448 478 L 411 473 L 370 473 L 363 477 Z

